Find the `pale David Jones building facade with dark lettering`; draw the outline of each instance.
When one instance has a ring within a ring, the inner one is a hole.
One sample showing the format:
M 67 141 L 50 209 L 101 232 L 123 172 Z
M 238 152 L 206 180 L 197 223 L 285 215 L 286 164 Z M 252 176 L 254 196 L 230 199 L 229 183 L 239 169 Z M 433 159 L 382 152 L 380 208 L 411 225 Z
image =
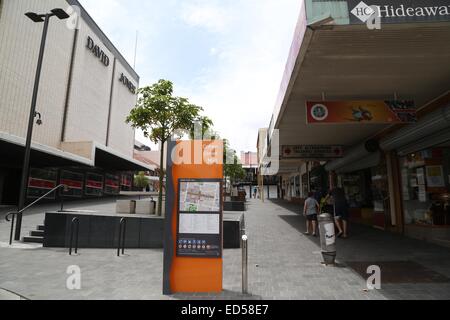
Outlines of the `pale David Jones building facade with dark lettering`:
M 42 125 L 34 126 L 31 166 L 71 168 L 84 187 L 87 171 L 120 181 L 120 172 L 150 169 L 133 158 L 135 131 L 125 122 L 136 104 L 139 76 L 80 3 L 1 0 L 0 189 L 17 191 L 42 35 L 43 24 L 24 14 L 53 8 L 70 18 L 50 21 L 37 100 Z M 47 185 L 58 184 L 60 173 L 51 176 L 55 181 Z M 14 202 L 14 193 L 0 194 L 0 203 Z

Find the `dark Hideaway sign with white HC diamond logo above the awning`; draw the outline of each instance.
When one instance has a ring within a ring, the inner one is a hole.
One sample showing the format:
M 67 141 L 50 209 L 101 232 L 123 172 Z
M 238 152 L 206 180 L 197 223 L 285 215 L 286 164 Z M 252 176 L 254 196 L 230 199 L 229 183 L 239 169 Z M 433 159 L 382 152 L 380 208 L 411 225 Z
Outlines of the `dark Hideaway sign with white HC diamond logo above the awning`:
M 448 0 L 348 0 L 351 23 L 376 14 L 384 23 L 450 21 Z

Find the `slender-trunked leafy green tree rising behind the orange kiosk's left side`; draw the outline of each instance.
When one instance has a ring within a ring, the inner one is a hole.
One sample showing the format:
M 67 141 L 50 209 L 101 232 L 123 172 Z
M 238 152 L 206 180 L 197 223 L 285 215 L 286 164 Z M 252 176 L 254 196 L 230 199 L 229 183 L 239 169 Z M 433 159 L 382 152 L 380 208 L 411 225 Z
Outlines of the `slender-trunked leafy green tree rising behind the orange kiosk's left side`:
M 161 168 L 163 168 L 165 143 L 178 130 L 191 132 L 197 121 L 212 125 L 209 119 L 201 116 L 202 107 L 190 103 L 186 98 L 173 95 L 173 84 L 168 80 L 159 80 L 151 86 L 141 88 L 138 90 L 138 95 L 138 102 L 131 110 L 126 122 L 133 128 L 141 129 L 144 135 L 154 143 L 161 144 Z M 159 215 L 162 213 L 164 175 L 164 170 L 160 170 Z

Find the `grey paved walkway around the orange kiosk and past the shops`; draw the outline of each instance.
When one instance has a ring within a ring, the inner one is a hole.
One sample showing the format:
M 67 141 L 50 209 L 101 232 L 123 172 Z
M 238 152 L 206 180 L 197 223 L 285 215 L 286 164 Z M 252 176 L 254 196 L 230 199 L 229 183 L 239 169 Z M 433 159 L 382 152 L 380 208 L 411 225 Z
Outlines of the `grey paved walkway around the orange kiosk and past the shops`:
M 111 200 L 81 202 L 69 208 L 104 210 Z M 41 209 L 42 210 L 42 209 Z M 284 202 L 252 201 L 246 213 L 249 242 L 249 289 L 241 289 L 241 251 L 225 250 L 224 292 L 220 295 L 161 295 L 162 250 L 67 250 L 16 245 L 9 248 L 9 224 L 0 222 L 0 288 L 29 299 L 450 299 L 450 283 L 382 284 L 367 291 L 366 280 L 350 268 L 353 261 L 411 261 L 450 278 L 450 250 L 367 227 L 353 227 L 338 242 L 338 267 L 323 267 L 318 239 L 303 235 L 304 219 Z M 42 214 L 24 218 L 34 228 Z M 26 228 L 27 228 L 26 227 Z M 30 229 L 30 230 L 31 230 Z M 2 243 L 3 242 L 3 243 Z M 66 288 L 67 268 L 81 268 L 81 290 Z M 389 271 L 389 270 L 388 270 Z M 382 270 L 383 272 L 383 270 Z M 383 279 L 383 275 L 382 275 Z

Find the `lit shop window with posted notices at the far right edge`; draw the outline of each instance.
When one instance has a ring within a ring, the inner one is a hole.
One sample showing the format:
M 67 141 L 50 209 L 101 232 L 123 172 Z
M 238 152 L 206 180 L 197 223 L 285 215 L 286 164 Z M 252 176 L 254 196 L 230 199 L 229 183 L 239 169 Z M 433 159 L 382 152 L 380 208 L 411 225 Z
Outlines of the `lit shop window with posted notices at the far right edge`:
M 401 159 L 405 224 L 450 225 L 450 148 Z

